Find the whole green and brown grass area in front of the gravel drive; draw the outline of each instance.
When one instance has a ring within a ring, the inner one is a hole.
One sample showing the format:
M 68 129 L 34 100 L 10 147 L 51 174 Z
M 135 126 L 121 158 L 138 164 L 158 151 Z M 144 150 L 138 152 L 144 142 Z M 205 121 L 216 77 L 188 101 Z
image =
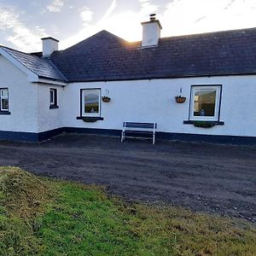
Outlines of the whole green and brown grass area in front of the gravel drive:
M 149 207 L 0 168 L 0 255 L 255 255 L 243 220 Z

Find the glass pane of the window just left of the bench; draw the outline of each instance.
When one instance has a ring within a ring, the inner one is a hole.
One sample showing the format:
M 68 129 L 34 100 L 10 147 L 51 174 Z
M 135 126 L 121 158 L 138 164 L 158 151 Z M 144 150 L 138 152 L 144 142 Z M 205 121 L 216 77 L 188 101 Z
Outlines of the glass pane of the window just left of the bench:
M 84 113 L 99 113 L 99 90 L 85 91 Z

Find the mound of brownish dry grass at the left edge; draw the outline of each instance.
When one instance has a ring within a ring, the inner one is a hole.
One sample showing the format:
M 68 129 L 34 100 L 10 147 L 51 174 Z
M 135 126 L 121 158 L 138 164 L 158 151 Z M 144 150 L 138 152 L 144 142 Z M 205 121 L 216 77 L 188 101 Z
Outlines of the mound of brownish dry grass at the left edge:
M 38 177 L 16 167 L 0 167 L 0 203 L 9 215 L 32 218 L 42 212 L 52 191 Z

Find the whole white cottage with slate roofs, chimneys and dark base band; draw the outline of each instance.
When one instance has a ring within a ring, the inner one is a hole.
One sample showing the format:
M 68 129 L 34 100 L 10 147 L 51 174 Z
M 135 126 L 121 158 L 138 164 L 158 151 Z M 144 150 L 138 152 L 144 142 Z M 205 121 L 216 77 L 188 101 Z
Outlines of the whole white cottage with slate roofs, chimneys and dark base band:
M 157 123 L 156 138 L 256 143 L 256 28 L 160 38 L 154 16 L 142 25 L 136 43 L 102 31 L 65 50 L 1 46 L 0 139 L 119 136 L 132 121 Z

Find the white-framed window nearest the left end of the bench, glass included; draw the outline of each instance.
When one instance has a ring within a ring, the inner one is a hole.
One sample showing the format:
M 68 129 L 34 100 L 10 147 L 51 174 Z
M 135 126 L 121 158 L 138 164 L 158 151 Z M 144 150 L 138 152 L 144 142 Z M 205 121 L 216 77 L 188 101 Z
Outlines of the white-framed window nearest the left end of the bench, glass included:
M 101 90 L 81 90 L 81 114 L 88 117 L 99 117 L 101 115 Z

